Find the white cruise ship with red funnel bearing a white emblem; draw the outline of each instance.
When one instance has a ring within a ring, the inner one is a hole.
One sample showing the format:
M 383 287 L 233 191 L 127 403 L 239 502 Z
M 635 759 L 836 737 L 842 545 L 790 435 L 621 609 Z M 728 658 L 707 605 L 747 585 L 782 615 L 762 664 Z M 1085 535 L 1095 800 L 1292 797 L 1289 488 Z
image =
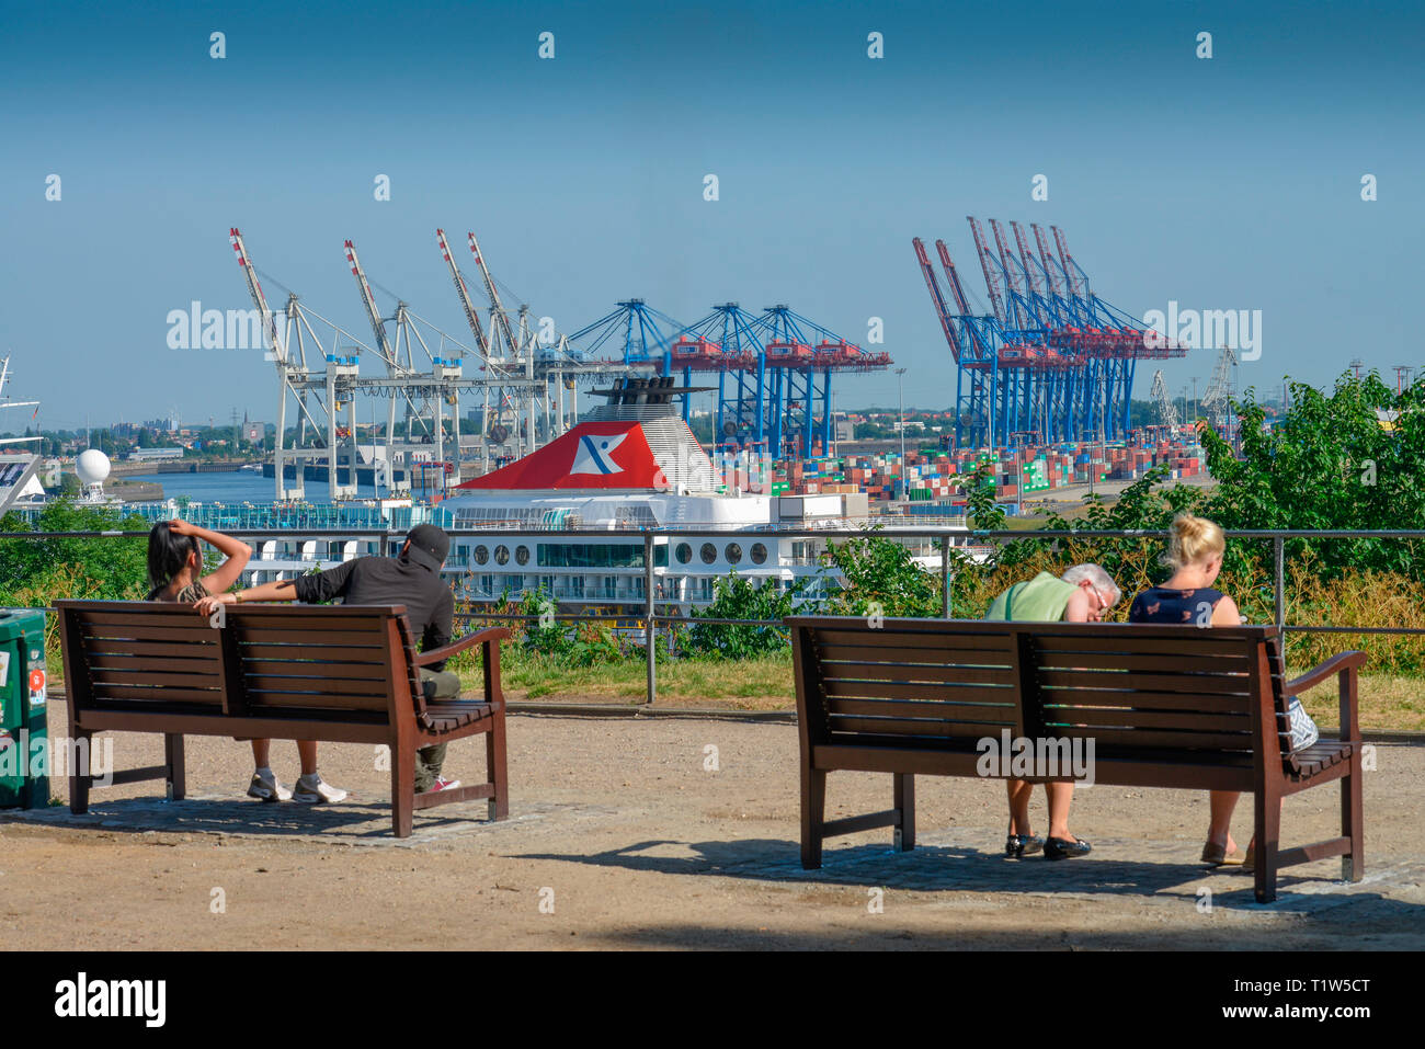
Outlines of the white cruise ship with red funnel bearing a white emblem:
M 311 507 L 325 513 L 295 517 L 286 524 L 289 537 L 255 543 L 247 582 L 390 554 L 405 529 L 430 522 L 452 532 L 445 572 L 462 600 L 497 606 L 543 593 L 566 611 L 637 614 L 647 606 L 644 557 L 653 533 L 654 603 L 687 613 L 712 601 L 715 580 L 730 573 L 782 590 L 799 584 L 799 600 L 815 600 L 841 586 L 824 556 L 835 536 L 819 533 L 881 524 L 893 536 L 911 526 L 872 517 L 864 493 L 772 495 L 770 463 L 758 456 L 714 462 L 675 403 L 691 391 L 673 383 L 621 379 L 594 391 L 608 402 L 571 430 L 455 486 L 433 506 Z M 209 519 L 202 509 L 190 506 L 185 516 L 198 512 L 201 523 L 235 532 L 258 524 L 241 513 L 231 522 Z M 343 523 L 358 520 L 389 534 L 341 534 Z M 963 522 L 946 524 L 952 544 L 966 547 Z M 318 529 L 322 534 L 311 534 Z M 923 567 L 939 570 L 938 540 L 898 542 Z

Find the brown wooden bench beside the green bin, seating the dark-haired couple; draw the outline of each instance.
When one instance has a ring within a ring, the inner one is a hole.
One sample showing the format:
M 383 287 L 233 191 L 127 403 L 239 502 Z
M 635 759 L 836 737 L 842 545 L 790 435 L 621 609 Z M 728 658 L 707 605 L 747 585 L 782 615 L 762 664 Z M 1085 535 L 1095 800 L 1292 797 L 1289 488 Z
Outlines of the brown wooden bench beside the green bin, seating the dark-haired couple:
M 509 812 L 500 641 L 482 630 L 416 654 L 405 606 L 224 606 L 222 629 L 154 601 L 57 601 L 70 737 L 162 733 L 165 763 L 114 772 L 114 784 L 165 780 L 184 797 L 184 735 L 369 743 L 390 748 L 398 838 L 412 814 L 489 800 Z M 418 668 L 475 644 L 484 653 L 484 700 L 432 701 Z M 415 792 L 416 750 L 486 735 L 486 782 Z M 91 770 L 70 775 L 70 811 L 88 810 Z

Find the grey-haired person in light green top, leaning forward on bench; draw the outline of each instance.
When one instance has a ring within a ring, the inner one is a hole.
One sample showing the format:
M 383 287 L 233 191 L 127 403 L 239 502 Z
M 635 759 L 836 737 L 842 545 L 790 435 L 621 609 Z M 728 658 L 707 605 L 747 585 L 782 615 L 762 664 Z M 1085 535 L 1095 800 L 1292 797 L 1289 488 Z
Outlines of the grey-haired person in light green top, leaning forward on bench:
M 1119 586 L 1097 564 L 1074 564 L 1063 579 L 1040 572 L 1025 583 L 1016 583 L 996 597 L 985 619 L 1013 623 L 1097 623 L 1119 603 Z M 1069 832 L 1069 805 L 1073 801 L 1072 782 L 1046 782 L 1049 798 L 1049 841 L 1029 830 L 1029 798 L 1033 784 L 1025 780 L 1005 780 L 1009 791 L 1009 838 L 1005 854 L 1032 855 L 1043 849 L 1049 859 L 1089 855 L 1092 847 Z

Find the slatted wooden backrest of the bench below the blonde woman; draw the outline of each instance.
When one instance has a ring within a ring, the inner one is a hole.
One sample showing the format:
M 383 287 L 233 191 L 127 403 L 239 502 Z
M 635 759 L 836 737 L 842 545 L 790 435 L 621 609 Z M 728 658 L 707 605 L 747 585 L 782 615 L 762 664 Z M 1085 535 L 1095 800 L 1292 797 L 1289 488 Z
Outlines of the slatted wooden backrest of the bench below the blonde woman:
M 1285 724 L 1274 627 L 787 621 L 808 745 L 963 748 L 1010 728 L 1092 738 L 1099 755 L 1245 758 L 1267 724 L 1258 697 L 1274 707 L 1270 723 Z

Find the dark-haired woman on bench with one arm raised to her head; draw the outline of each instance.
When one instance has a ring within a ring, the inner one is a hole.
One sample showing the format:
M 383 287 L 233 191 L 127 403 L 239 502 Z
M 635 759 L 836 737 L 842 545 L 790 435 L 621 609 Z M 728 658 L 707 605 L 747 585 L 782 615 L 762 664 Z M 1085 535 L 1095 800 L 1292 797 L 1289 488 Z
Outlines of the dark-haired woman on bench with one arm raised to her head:
M 204 572 L 202 543 L 209 543 L 224 554 L 222 564 L 212 572 Z M 209 532 L 185 520 L 168 520 L 154 524 L 148 533 L 148 591 L 150 601 L 181 601 L 194 604 L 204 597 L 224 593 L 238 582 L 242 569 L 252 556 L 247 543 Z M 315 740 L 298 740 L 296 753 L 302 760 L 302 778 L 296 781 L 296 794 L 278 782 L 269 767 L 272 741 L 252 740 L 252 758 L 256 771 L 248 784 L 248 797 L 262 801 L 341 801 L 346 791 L 322 781 L 316 771 Z

